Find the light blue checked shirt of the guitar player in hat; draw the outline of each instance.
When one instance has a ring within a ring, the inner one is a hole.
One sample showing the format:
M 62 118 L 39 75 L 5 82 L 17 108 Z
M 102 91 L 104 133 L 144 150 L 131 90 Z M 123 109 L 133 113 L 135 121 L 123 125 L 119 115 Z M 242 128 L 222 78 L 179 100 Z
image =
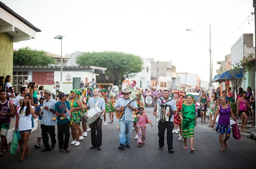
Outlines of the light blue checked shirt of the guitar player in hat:
M 119 108 L 121 106 L 125 107 L 130 101 L 131 101 L 130 98 L 128 100 L 125 100 L 125 99 L 123 99 L 123 97 L 121 97 L 120 99 L 118 99 L 116 101 L 114 107 L 116 107 L 116 108 Z M 138 108 L 136 101 L 133 101 L 132 103 L 130 103 L 130 106 L 132 106 L 134 108 Z M 133 121 L 133 110 L 126 107 L 124 112 L 125 112 L 124 115 L 119 120 Z

